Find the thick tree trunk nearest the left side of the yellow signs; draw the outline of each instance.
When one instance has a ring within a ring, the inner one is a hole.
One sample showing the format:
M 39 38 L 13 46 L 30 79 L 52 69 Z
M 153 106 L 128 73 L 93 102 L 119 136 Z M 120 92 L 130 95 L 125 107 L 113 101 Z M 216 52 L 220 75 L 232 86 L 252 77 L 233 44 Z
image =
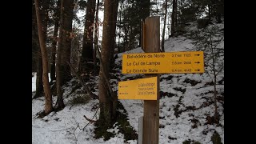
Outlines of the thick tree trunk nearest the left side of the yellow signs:
M 99 72 L 99 105 L 100 105 L 100 117 L 99 122 L 102 125 L 111 126 L 113 123 L 113 101 L 111 98 L 110 91 L 107 89 L 105 78 L 103 78 L 103 71 L 105 70 L 106 78 L 109 78 L 109 66 L 110 66 L 110 57 L 111 57 L 111 43 L 113 43 L 113 31 L 114 24 L 111 24 L 113 20 L 112 14 L 115 10 L 113 2 L 118 2 L 117 0 L 110 1 L 106 0 L 104 2 L 104 22 L 103 22 L 103 34 L 102 34 L 102 65 Z

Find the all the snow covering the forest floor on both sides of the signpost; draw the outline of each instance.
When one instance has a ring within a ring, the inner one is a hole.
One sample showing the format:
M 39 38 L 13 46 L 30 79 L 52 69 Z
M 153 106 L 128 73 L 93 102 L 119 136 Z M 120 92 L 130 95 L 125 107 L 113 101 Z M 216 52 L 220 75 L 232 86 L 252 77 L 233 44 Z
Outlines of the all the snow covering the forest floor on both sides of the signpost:
M 221 25 L 220 25 L 221 26 Z M 193 50 L 192 40 L 179 36 L 169 38 L 165 42 L 166 52 L 170 51 L 189 51 Z M 224 48 L 224 42 L 221 43 Z M 143 53 L 141 48 L 126 51 L 118 54 L 116 64 L 122 66 L 122 54 Z M 118 78 L 123 81 L 126 78 L 143 74 L 121 74 L 118 70 Z M 32 91 L 35 90 L 35 78 L 32 78 Z M 129 79 L 128 78 L 128 79 Z M 223 74 L 219 79 L 224 78 Z M 186 140 L 201 142 L 202 144 L 211 144 L 211 136 L 214 131 L 220 134 L 222 143 L 224 143 L 224 105 L 217 102 L 218 113 L 220 114 L 219 125 L 206 124 L 206 116 L 214 114 L 214 96 L 211 91 L 214 86 L 210 86 L 212 81 L 209 74 L 161 74 L 160 82 L 160 110 L 159 110 L 159 143 L 182 144 Z M 194 83 L 188 82 L 194 81 Z M 94 81 L 98 82 L 98 78 Z M 111 82 L 117 83 L 117 80 L 111 79 Z M 71 83 L 71 82 L 70 82 Z M 71 86 L 71 84 L 68 86 Z M 117 84 L 116 84 L 117 85 Z M 45 118 L 34 118 L 35 115 L 43 110 L 44 98 L 37 98 L 32 101 L 32 143 L 125 143 L 123 134 L 116 134 L 114 138 L 103 141 L 103 138 L 94 138 L 94 125 L 88 124 L 83 115 L 94 120 L 98 119 L 98 112 L 95 114 L 95 107 L 98 106 L 98 100 L 90 100 L 86 104 L 71 106 L 70 98 L 67 96 L 71 88 L 66 88 L 64 102 L 66 107 L 57 113 L 51 113 Z M 95 88 L 94 94 L 98 94 Z M 114 86 L 118 90 L 118 86 Z M 218 96 L 224 93 L 224 82 L 217 85 Z M 224 98 L 224 96 L 223 96 Z M 56 102 L 56 97 L 53 97 Z M 119 100 L 128 113 L 130 125 L 138 132 L 138 118 L 143 116 L 142 100 Z M 223 101 L 224 103 L 224 101 Z M 94 117 L 95 114 L 95 117 Z M 177 117 L 178 115 L 178 117 Z M 85 127 L 86 126 L 86 127 Z M 85 127 L 85 130 L 82 130 Z M 117 133 L 118 126 L 114 126 Z M 130 140 L 126 143 L 137 143 L 137 140 Z

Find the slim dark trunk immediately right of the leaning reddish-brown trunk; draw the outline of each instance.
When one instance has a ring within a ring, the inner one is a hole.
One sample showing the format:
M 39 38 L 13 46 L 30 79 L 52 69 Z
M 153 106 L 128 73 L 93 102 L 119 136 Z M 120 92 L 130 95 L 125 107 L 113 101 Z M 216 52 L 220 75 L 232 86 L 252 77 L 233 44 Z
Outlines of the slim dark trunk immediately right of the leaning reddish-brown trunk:
M 52 38 L 52 51 L 51 51 L 51 62 L 50 62 L 50 81 L 56 80 L 55 77 L 55 58 L 56 58 L 56 46 L 58 41 L 58 26 L 60 16 L 60 1 L 58 0 L 57 7 L 54 14 L 54 36 Z

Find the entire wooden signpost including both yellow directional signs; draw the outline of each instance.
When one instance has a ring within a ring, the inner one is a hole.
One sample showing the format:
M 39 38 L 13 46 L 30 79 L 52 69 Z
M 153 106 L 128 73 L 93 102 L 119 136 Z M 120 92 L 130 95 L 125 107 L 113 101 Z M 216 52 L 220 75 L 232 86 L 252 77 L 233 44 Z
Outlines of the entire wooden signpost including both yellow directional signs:
M 142 50 L 145 54 L 123 54 L 122 74 L 145 74 L 146 78 L 118 82 L 118 99 L 143 99 L 142 134 L 138 142 L 159 141 L 159 74 L 203 73 L 202 51 L 160 53 L 160 17 L 142 22 Z M 140 121 L 142 118 L 140 118 Z

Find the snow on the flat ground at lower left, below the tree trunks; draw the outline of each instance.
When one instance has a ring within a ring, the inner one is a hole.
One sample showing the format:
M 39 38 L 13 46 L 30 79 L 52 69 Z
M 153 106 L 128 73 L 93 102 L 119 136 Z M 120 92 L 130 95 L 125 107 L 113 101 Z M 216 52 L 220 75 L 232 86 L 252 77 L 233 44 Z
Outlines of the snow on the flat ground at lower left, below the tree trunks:
M 64 90 L 63 95 L 70 93 L 70 89 L 66 88 Z M 54 96 L 54 104 L 56 100 L 57 97 Z M 123 143 L 123 134 L 117 134 L 107 142 L 103 141 L 103 138 L 94 139 L 94 125 L 88 124 L 83 115 L 93 120 L 98 119 L 98 100 L 90 100 L 86 104 L 72 106 L 69 103 L 69 97 L 64 98 L 64 102 L 66 107 L 63 110 L 57 113 L 52 112 L 44 118 L 35 118 L 35 115 L 44 108 L 44 98 L 41 97 L 32 101 L 32 143 Z M 96 111 L 97 113 L 95 113 Z M 135 144 L 136 142 L 128 141 L 128 143 Z

